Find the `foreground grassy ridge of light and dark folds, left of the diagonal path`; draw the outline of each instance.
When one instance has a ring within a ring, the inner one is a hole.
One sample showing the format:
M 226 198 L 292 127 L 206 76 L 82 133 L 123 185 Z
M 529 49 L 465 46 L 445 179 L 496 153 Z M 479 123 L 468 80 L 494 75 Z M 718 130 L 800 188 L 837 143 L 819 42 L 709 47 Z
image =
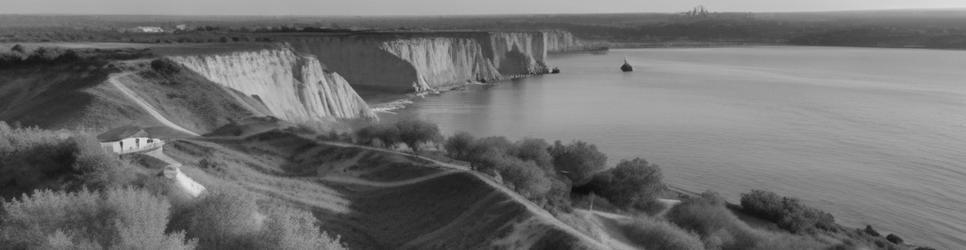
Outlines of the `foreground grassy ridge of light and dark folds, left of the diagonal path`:
M 205 162 L 193 173 L 207 176 L 199 182 L 233 183 L 265 202 L 310 210 L 353 249 L 589 247 L 477 175 L 417 157 L 284 132 L 168 149 L 180 161 Z

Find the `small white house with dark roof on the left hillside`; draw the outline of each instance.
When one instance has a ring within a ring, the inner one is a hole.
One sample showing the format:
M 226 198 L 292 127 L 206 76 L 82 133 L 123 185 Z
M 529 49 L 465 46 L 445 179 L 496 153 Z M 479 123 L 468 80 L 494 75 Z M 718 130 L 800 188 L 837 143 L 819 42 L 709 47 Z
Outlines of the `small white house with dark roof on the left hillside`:
M 104 150 L 116 154 L 130 154 L 155 150 L 164 146 L 164 141 L 151 138 L 147 131 L 135 126 L 118 127 L 97 136 Z

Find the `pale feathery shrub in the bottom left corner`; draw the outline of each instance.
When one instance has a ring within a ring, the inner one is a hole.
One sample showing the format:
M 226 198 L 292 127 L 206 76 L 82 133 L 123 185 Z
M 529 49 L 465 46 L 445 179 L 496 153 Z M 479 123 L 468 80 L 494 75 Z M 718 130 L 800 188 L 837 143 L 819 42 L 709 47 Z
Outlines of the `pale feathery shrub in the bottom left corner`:
M 193 249 L 165 234 L 170 205 L 131 188 L 42 190 L 3 203 L 0 245 L 16 249 Z M 69 248 L 64 248 L 71 246 Z

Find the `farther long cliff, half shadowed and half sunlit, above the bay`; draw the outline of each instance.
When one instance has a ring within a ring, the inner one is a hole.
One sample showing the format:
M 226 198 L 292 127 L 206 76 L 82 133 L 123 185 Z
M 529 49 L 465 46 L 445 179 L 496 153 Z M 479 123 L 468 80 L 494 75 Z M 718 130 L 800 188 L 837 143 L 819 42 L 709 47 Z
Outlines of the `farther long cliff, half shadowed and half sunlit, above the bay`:
M 281 37 L 353 86 L 412 92 L 547 72 L 542 32 Z

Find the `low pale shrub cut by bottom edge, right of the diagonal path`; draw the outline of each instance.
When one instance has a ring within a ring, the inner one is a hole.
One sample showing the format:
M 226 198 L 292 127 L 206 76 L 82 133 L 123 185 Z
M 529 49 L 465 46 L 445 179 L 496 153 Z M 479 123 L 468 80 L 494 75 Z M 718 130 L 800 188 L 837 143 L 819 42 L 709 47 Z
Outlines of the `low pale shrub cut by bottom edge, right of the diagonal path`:
M 644 249 L 700 250 L 704 249 L 701 240 L 665 221 L 641 218 L 623 225 L 622 230 L 629 240 Z

